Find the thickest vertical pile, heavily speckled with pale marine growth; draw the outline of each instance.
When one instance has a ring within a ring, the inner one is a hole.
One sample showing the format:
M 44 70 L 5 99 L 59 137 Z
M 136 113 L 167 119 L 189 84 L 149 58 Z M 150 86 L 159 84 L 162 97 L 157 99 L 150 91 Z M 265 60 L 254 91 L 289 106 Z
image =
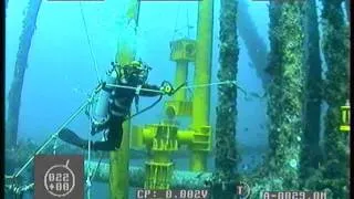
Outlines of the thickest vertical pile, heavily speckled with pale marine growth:
M 270 176 L 274 189 L 299 187 L 303 139 L 304 35 L 303 1 L 270 2 L 271 60 L 267 114 L 269 117 Z

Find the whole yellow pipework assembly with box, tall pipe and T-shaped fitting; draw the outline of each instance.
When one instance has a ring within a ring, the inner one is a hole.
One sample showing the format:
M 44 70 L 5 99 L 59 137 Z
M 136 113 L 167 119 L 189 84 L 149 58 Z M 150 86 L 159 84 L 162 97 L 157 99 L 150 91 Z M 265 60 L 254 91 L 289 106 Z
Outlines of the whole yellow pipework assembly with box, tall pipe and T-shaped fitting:
M 195 62 L 194 84 L 209 84 L 211 76 L 214 1 L 199 1 L 197 41 L 181 39 L 170 42 L 170 60 L 176 62 L 175 85 L 181 85 L 188 77 L 188 62 Z M 186 90 L 179 90 L 174 98 L 165 103 L 168 119 L 160 124 L 133 127 L 131 147 L 145 146 L 149 158 L 145 163 L 145 189 L 169 189 L 174 164 L 171 154 L 181 145 L 191 150 L 191 171 L 205 171 L 207 153 L 211 148 L 211 127 L 209 126 L 210 88 L 194 90 L 192 102 L 187 100 Z M 176 116 L 191 116 L 188 130 L 178 129 Z

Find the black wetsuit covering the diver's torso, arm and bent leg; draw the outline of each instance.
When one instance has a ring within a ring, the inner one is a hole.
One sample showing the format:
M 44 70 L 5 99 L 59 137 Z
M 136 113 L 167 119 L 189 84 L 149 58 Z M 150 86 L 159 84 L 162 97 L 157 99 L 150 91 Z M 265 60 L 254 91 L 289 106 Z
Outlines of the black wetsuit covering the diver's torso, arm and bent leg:
M 126 86 L 134 86 L 129 84 L 121 84 Z M 148 88 L 154 91 L 159 91 L 159 86 L 144 84 L 142 88 Z M 105 90 L 107 91 L 107 90 Z M 112 92 L 110 98 L 110 119 L 104 125 L 103 129 L 107 129 L 107 140 L 95 142 L 92 144 L 93 150 L 115 150 L 121 147 L 123 138 L 123 122 L 129 116 L 131 106 L 133 100 L 136 95 L 135 90 L 117 87 L 111 90 Z M 139 96 L 157 96 L 160 95 L 158 92 L 140 91 Z M 101 129 L 100 129 L 101 130 Z

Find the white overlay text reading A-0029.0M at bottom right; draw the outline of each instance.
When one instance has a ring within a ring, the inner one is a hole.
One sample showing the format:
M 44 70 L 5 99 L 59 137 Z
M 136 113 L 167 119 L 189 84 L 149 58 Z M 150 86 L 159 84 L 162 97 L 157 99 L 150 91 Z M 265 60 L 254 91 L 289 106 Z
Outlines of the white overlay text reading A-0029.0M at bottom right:
M 325 191 L 264 191 L 262 199 L 326 199 Z

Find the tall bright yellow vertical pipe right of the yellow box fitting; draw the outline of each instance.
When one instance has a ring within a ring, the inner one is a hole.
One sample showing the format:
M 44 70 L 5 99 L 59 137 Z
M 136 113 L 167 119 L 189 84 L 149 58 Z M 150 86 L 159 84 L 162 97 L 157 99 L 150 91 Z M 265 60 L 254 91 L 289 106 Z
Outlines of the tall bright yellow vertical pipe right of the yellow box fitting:
M 210 83 L 212 54 L 212 21 L 214 0 L 202 0 L 198 4 L 198 28 L 196 43 L 195 85 Z M 202 100 L 202 102 L 201 102 Z M 209 125 L 210 87 L 196 88 L 192 100 L 192 128 L 198 130 Z M 191 171 L 205 171 L 207 154 L 192 151 L 190 160 Z

